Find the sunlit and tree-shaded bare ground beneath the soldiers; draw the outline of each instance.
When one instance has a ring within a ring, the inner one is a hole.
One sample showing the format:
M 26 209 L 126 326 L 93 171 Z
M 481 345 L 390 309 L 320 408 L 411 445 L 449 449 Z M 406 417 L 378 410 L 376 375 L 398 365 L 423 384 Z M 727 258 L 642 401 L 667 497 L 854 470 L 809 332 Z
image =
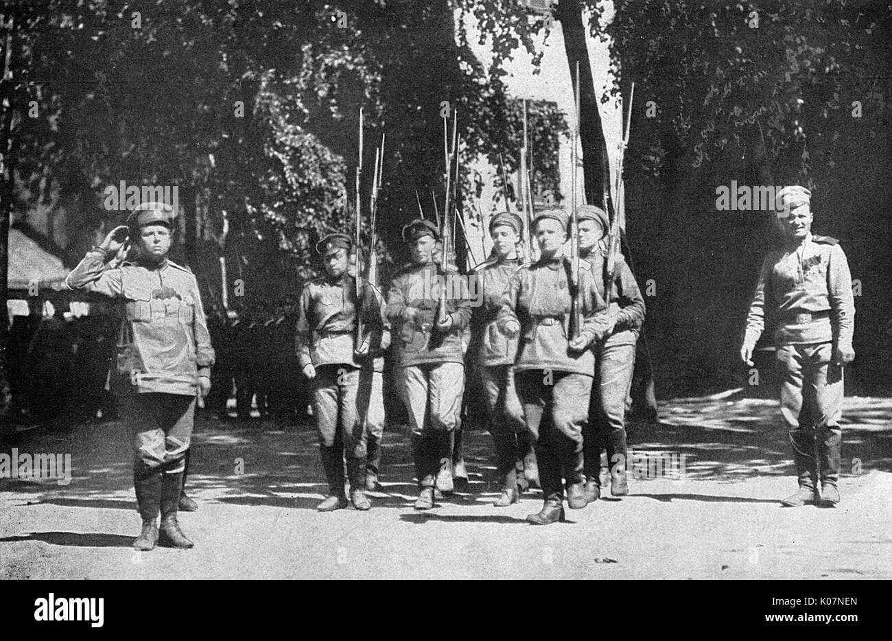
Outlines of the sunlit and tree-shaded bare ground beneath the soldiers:
M 467 437 L 471 487 L 411 509 L 404 432 L 384 439 L 371 512 L 313 509 L 325 487 L 309 425 L 202 418 L 181 515 L 193 550 L 134 553 L 138 516 L 119 423 L 30 429 L 0 453 L 70 453 L 73 478 L 0 479 L 0 577 L 8 579 L 890 579 L 892 399 L 847 398 L 843 503 L 784 509 L 795 487 L 772 401 L 737 395 L 661 405 L 642 453 L 685 455 L 684 479 L 632 479 L 571 522 L 524 522 L 540 495 L 496 509 L 491 439 Z M 677 459 L 676 459 L 677 460 Z

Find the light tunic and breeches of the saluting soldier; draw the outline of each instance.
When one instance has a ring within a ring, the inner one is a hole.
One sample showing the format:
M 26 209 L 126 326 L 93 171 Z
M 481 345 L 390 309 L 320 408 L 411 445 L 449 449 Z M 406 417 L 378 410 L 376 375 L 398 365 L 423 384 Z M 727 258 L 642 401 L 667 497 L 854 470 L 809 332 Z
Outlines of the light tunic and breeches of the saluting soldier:
M 198 377 L 210 377 L 214 362 L 198 282 L 167 259 L 108 269 L 112 257 L 99 248 L 87 252 L 65 284 L 123 301 L 118 372 L 128 391 L 123 413 L 137 476 L 161 468 L 176 474 L 192 438 Z

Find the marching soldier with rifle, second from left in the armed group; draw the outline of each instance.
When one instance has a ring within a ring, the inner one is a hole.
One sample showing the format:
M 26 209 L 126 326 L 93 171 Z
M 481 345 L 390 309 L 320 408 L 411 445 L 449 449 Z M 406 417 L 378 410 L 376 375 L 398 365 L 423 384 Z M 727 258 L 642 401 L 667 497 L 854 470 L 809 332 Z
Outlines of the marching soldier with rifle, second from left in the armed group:
M 452 464 L 451 435 L 461 427 L 465 387 L 462 333 L 471 319 L 467 291 L 458 296 L 459 275 L 434 262 L 439 232 L 433 222 L 412 221 L 402 230 L 411 262 L 393 276 L 387 318 L 400 337 L 395 348 L 396 385 L 409 413 L 418 479 L 416 510 L 434 507 L 438 475 Z M 446 287 L 446 292 L 442 291 Z M 437 319 L 440 296 L 446 315 Z M 450 487 L 441 489 L 450 490 Z

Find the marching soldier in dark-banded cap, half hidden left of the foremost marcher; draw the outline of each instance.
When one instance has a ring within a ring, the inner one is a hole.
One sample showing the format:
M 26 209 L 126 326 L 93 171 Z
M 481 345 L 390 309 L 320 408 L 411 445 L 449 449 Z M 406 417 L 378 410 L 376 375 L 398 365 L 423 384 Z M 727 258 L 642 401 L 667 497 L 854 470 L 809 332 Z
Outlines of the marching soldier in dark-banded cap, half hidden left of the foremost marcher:
M 483 397 L 490 415 L 496 466 L 502 483 L 502 493 L 494 504 L 496 507 L 517 503 L 520 491 L 524 486 L 529 487 L 530 479 L 539 483 L 535 454 L 524 422 L 524 408 L 514 384 L 517 339 L 508 338 L 497 327 L 502 294 L 508 280 L 520 267 L 517 244 L 523 229 L 524 221 L 516 213 L 501 212 L 493 216 L 490 221 L 493 255 L 470 274 L 470 278 L 476 279 L 478 291 L 483 292 L 483 305 L 471 318 L 475 334 L 472 345 L 476 348 L 475 364 L 483 382 Z

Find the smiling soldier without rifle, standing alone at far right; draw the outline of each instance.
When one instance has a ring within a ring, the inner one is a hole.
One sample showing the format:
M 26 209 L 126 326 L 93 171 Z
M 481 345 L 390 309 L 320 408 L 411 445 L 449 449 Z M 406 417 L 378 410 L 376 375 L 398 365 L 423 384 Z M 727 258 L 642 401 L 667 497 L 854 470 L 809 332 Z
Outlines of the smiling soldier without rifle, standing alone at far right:
M 842 247 L 835 238 L 812 234 L 811 196 L 799 186 L 784 187 L 777 196 L 784 247 L 769 253 L 762 263 L 740 358 L 753 365 L 765 308 L 776 312 L 774 343 L 783 366 L 780 413 L 799 480 L 797 491 L 781 503 L 797 507 L 814 501 L 836 507 L 842 373 L 855 359 L 855 301 Z

